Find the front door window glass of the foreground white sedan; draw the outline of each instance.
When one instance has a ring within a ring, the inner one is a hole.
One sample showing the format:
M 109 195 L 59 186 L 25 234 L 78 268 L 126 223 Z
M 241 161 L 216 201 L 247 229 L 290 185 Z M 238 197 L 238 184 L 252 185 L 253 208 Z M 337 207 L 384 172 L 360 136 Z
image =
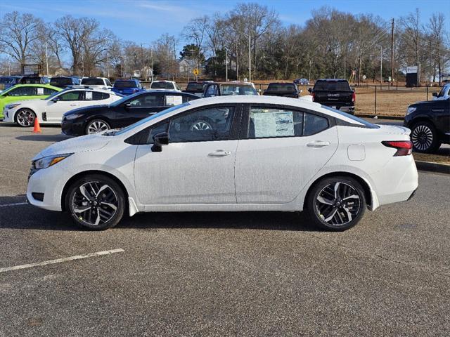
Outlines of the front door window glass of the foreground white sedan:
M 210 107 L 174 117 L 169 126 L 171 143 L 227 140 L 233 107 Z

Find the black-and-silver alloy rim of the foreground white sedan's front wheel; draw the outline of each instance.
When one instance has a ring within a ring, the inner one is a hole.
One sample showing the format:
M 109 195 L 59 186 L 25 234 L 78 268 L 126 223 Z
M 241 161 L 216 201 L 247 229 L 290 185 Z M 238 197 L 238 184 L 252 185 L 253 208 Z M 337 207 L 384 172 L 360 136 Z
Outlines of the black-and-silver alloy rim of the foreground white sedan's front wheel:
M 75 190 L 70 206 L 82 223 L 97 226 L 115 216 L 119 201 L 117 194 L 108 184 L 90 181 Z

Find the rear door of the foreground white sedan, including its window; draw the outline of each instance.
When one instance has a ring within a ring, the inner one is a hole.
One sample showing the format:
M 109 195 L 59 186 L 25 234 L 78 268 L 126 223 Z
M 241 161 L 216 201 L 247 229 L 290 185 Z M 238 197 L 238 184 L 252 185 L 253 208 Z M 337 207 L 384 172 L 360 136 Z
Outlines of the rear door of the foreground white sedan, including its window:
M 332 124 L 297 107 L 247 106 L 236 152 L 238 203 L 293 201 L 337 149 Z

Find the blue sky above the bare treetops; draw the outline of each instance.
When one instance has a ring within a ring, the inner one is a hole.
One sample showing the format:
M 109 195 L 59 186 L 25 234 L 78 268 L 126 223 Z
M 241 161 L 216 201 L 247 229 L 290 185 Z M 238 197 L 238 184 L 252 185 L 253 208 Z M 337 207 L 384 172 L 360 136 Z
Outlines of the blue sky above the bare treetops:
M 11 11 L 32 13 L 46 22 L 64 15 L 96 18 L 102 27 L 112 30 L 123 40 L 150 44 L 161 34 L 175 37 L 193 18 L 226 13 L 240 2 L 235 0 L 0 0 L 0 15 Z M 444 11 L 450 28 L 450 0 L 258 0 L 258 4 L 278 12 L 284 25 L 303 25 L 311 11 L 330 6 L 353 14 L 372 13 L 385 20 L 398 18 L 420 9 L 423 22 L 432 13 Z M 181 46 L 177 46 L 181 49 Z

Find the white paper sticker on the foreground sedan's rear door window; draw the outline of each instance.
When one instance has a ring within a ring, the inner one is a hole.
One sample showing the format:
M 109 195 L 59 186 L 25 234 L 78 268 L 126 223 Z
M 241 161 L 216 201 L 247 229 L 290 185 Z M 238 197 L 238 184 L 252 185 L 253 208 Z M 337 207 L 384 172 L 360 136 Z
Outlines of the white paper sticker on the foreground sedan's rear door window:
M 255 110 L 251 117 L 256 138 L 295 136 L 292 111 Z

